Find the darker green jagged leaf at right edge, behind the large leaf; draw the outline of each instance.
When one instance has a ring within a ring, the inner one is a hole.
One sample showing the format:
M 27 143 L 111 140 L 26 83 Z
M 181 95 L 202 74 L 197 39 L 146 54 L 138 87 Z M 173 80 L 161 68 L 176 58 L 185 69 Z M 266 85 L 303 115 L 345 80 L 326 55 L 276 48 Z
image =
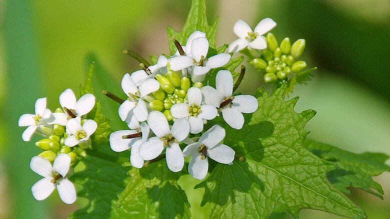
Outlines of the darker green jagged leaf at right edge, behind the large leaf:
M 338 165 L 336 170 L 327 174 L 338 190 L 350 194 L 347 187 L 354 187 L 383 199 L 383 189 L 372 177 L 390 171 L 385 164 L 389 158 L 387 155 L 371 152 L 355 154 L 313 140 L 305 140 L 304 146 L 318 157 Z

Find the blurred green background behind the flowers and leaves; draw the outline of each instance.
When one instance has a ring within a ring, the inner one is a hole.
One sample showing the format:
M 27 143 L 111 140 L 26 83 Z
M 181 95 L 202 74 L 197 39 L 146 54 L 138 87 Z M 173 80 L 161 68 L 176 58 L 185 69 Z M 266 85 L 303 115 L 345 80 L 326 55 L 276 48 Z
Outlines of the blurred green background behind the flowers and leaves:
M 33 111 L 34 101 L 48 97 L 58 106 L 65 88 L 77 89 L 85 73 L 84 57 L 94 52 L 119 80 L 137 63 L 124 48 L 143 56 L 168 53 L 165 28 L 179 30 L 190 1 L 174 0 L 0 0 L 0 219 L 59 219 L 77 209 L 57 197 L 37 202 L 30 187 L 38 176 L 29 170 L 39 150 L 21 140 L 17 119 Z M 388 0 L 209 0 L 209 20 L 219 15 L 217 45 L 235 39 L 233 23 L 254 26 L 272 17 L 278 39 L 306 39 L 305 60 L 318 66 L 313 80 L 296 87 L 296 111 L 314 109 L 310 138 L 353 151 L 390 154 L 390 1 Z M 254 92 L 261 75 L 250 68 L 242 92 Z M 113 117 L 113 120 L 118 120 Z M 352 199 L 369 219 L 390 214 L 390 174 L 375 177 L 384 200 L 352 191 Z M 193 218 L 206 216 L 199 207 L 202 191 L 189 178 L 180 179 Z M 275 214 L 273 218 L 289 218 Z M 302 210 L 301 219 L 336 219 Z

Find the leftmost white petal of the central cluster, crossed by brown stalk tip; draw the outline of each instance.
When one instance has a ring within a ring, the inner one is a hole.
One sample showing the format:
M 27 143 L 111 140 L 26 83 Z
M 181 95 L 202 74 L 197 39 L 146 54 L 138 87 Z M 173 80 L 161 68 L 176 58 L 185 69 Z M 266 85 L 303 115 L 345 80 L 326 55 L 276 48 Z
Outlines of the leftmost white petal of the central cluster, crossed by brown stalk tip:
M 135 134 L 135 130 L 120 130 L 109 135 L 109 146 L 114 152 L 122 152 L 130 148 L 139 138 L 123 139 L 123 136 Z

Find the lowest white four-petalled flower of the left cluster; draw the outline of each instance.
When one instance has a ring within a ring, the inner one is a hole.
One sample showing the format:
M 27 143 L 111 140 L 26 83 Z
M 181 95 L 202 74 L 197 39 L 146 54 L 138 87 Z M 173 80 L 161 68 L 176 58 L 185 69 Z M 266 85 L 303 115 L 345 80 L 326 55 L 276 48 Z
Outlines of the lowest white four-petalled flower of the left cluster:
M 76 190 L 66 176 L 69 167 L 70 157 L 66 154 L 59 154 L 55 158 L 52 167 L 46 159 L 39 156 L 33 157 L 30 162 L 31 170 L 44 178 L 32 186 L 32 196 L 36 200 L 41 201 L 46 199 L 57 188 L 62 202 L 66 204 L 74 203 L 76 201 Z

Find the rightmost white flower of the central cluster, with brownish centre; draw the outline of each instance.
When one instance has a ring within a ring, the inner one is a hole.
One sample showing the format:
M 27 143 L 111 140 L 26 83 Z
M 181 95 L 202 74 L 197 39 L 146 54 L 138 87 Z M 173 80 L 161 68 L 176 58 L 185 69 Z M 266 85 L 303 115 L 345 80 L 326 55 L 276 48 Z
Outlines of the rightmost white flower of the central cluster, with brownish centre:
M 242 113 L 256 111 L 258 103 L 250 95 L 232 96 L 233 77 L 227 70 L 220 70 L 216 74 L 215 88 L 204 86 L 201 91 L 204 102 L 211 104 L 222 111 L 223 119 L 231 128 L 241 129 L 244 123 Z

